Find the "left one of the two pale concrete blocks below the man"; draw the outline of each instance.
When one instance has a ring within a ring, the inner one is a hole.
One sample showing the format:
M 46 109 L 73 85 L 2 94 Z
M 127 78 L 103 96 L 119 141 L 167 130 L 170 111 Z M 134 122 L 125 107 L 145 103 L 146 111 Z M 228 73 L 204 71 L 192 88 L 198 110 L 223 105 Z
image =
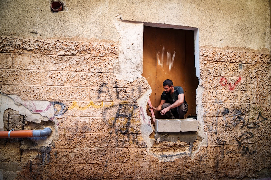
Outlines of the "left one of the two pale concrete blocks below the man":
M 180 132 L 180 121 L 178 119 L 156 119 L 155 131 Z

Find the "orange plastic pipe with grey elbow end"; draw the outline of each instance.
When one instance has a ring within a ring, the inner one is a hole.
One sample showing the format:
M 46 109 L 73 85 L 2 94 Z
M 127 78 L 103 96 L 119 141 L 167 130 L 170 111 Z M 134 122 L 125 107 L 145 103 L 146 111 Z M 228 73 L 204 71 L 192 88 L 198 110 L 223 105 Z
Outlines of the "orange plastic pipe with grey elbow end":
M 23 137 L 45 137 L 51 134 L 50 128 L 43 130 L 20 130 L 20 131 L 0 131 L 0 138 L 23 138 Z

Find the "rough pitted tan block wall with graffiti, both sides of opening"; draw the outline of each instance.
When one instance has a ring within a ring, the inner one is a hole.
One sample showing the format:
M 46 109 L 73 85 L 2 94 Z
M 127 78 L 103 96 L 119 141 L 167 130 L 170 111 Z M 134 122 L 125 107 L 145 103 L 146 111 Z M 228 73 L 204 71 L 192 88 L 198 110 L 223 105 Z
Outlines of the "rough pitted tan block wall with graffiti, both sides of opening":
M 50 145 L 31 151 L 33 156 L 20 164 L 17 179 L 218 179 L 270 174 L 269 53 L 201 48 L 197 113 L 205 137 L 195 132 L 192 140 L 173 142 L 163 134 L 159 143 L 152 133 L 153 144 L 148 147 L 142 126 L 152 125 L 138 100 L 150 86 L 145 78 L 117 80 L 113 66 L 118 63 L 118 43 L 2 37 L 0 52 L 1 93 L 34 104 L 49 101 L 54 107 L 54 116 L 47 117 L 56 137 Z M 46 107 L 35 112 L 45 112 Z M 20 162 L 19 156 L 5 158 L 4 148 L 20 152 L 20 142 L 3 142 L 0 149 L 5 163 Z M 176 150 L 190 153 L 174 154 Z

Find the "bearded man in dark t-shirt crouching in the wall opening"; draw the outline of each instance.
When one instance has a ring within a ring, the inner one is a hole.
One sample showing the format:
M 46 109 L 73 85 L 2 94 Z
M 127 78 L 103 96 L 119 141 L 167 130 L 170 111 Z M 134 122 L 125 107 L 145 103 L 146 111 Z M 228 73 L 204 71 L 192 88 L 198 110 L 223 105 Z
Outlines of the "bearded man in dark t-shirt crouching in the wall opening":
M 188 110 L 185 101 L 184 90 L 180 86 L 173 86 L 172 80 L 166 79 L 163 82 L 164 91 L 161 95 L 161 102 L 157 107 L 151 106 L 153 111 L 161 111 L 169 119 L 183 119 Z

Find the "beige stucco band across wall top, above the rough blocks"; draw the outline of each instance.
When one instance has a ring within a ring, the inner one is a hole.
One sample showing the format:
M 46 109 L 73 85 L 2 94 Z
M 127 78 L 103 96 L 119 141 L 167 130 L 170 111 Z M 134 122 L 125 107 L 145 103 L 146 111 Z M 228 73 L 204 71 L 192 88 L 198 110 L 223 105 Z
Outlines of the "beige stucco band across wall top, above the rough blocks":
M 35 39 L 117 41 L 117 16 L 128 21 L 199 28 L 200 46 L 270 48 L 269 1 L 5 1 L 0 6 L 2 36 Z

